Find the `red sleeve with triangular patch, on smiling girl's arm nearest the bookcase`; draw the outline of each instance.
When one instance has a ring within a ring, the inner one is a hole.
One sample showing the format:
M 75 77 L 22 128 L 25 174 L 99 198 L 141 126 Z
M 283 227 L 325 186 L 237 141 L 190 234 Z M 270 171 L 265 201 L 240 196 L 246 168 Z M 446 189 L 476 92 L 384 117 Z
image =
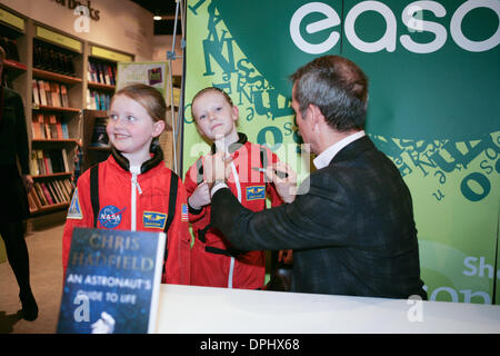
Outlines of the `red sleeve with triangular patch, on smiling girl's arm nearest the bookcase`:
M 74 227 L 92 227 L 93 212 L 90 202 L 90 176 L 84 172 L 77 184 L 77 189 L 71 198 L 70 207 L 66 218 L 64 231 L 62 234 L 62 268 L 63 276 L 68 267 L 69 251 L 71 247 L 71 237 Z

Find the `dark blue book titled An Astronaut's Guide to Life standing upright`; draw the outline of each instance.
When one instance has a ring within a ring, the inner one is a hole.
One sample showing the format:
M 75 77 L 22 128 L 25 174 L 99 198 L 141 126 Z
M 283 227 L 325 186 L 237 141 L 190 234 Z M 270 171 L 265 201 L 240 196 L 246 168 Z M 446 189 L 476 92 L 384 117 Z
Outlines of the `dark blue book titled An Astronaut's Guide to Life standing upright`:
M 58 333 L 154 332 L 166 234 L 74 228 Z

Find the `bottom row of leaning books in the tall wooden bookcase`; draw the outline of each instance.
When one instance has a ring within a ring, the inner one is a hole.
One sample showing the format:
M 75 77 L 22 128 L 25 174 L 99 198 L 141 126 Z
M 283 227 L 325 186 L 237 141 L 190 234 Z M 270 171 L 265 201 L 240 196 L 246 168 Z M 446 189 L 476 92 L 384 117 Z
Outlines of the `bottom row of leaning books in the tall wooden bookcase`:
M 36 181 L 28 194 L 30 211 L 54 204 L 67 204 L 71 200 L 72 186 L 69 178 Z

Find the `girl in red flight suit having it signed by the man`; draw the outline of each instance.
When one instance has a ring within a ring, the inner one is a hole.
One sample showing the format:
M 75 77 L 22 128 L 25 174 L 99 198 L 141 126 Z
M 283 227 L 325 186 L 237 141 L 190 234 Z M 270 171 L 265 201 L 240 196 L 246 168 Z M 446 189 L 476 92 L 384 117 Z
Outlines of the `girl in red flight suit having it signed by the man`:
M 216 87 L 198 92 L 191 105 L 192 116 L 199 132 L 212 141 L 212 154 L 224 150 L 231 156 L 231 176 L 228 185 L 241 204 L 253 210 L 266 208 L 266 196 L 272 206 L 292 197 L 281 197 L 276 186 L 266 182 L 259 169 L 276 167 L 286 170 L 278 157 L 263 146 L 251 144 L 244 134 L 238 132 L 238 107 L 231 98 Z M 191 250 L 191 284 L 197 286 L 257 289 L 264 285 L 264 251 L 239 251 L 232 248 L 223 235 L 210 224 L 210 194 L 203 181 L 203 157 L 200 157 L 186 174 L 189 219 L 194 233 Z M 291 258 L 291 250 L 287 251 Z

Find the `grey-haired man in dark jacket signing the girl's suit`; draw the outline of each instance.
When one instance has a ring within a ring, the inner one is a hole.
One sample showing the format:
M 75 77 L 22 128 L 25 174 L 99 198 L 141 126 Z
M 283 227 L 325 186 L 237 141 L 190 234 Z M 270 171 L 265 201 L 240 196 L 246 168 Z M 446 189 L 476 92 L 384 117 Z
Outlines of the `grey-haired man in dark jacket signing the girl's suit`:
M 317 170 L 291 204 L 252 212 L 226 189 L 223 157 L 214 155 L 204 167 L 211 222 L 239 249 L 293 249 L 293 291 L 427 299 L 410 191 L 363 131 L 367 77 L 348 59 L 324 56 L 291 78 Z

